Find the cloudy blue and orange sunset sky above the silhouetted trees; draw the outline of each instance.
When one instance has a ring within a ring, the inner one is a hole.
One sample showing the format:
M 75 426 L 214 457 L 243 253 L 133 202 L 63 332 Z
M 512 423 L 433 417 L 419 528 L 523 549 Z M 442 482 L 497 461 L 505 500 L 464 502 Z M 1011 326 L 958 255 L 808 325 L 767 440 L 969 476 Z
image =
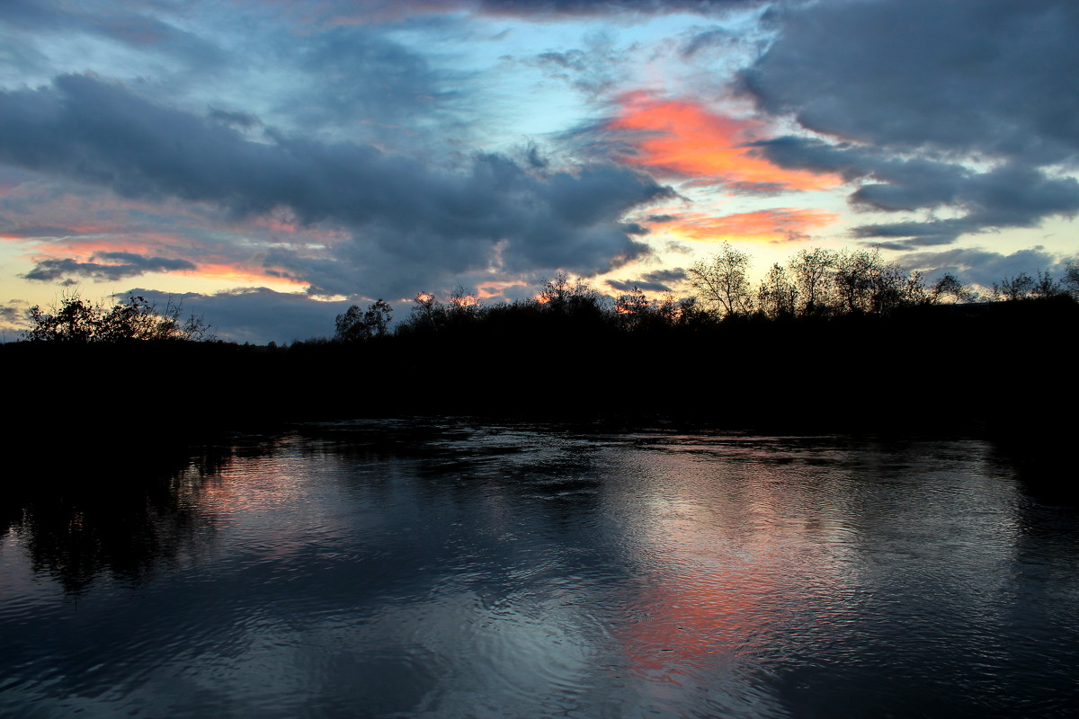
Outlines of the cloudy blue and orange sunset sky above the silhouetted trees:
M 3 0 L 0 338 L 65 293 L 222 338 L 557 273 L 687 294 L 879 248 L 1079 253 L 1074 0 Z

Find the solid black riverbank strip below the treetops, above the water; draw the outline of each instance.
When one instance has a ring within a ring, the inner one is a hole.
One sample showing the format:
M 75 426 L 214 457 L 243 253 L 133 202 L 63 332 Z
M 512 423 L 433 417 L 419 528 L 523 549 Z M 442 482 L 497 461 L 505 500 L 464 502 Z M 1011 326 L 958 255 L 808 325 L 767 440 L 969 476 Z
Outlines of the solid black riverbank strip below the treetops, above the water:
M 1049 446 L 1074 433 L 1076 328 L 1071 301 L 1019 302 L 636 331 L 489 322 L 288 347 L 15 343 L 0 361 L 14 441 L 57 451 L 420 414 Z

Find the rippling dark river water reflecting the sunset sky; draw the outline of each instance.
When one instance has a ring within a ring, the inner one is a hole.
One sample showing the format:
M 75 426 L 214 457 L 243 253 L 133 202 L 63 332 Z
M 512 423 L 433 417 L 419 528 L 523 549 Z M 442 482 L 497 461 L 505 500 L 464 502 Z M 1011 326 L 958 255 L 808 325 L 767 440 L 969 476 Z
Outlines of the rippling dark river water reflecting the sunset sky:
M 1079 515 L 982 442 L 358 423 L 96 471 L 0 524 L 2 716 L 1079 713 Z

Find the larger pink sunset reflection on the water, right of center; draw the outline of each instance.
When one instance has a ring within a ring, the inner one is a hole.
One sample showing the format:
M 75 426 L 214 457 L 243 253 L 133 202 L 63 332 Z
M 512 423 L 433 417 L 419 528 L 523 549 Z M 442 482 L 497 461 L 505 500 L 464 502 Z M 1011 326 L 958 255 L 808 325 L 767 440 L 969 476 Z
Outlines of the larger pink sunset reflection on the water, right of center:
M 851 591 L 842 502 L 790 468 L 686 448 L 626 457 L 647 475 L 614 499 L 639 522 L 627 540 L 641 573 L 613 635 L 632 676 L 674 685 L 767 654 Z

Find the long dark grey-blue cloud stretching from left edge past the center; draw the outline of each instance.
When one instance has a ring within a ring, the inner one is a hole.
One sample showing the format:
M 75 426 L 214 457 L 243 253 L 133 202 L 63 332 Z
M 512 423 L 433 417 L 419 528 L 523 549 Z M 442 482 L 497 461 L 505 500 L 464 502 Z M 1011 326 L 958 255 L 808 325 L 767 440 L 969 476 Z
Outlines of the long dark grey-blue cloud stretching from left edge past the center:
M 648 252 L 618 218 L 670 193 L 609 165 L 537 175 L 484 154 L 443 171 L 272 129 L 252 141 L 88 75 L 0 92 L 0 162 L 125 197 L 215 205 L 237 219 L 287 208 L 301 224 L 346 227 L 353 239 L 322 255 L 278 249 L 268 258 L 320 293 L 407 294 L 482 268 L 605 271 Z

